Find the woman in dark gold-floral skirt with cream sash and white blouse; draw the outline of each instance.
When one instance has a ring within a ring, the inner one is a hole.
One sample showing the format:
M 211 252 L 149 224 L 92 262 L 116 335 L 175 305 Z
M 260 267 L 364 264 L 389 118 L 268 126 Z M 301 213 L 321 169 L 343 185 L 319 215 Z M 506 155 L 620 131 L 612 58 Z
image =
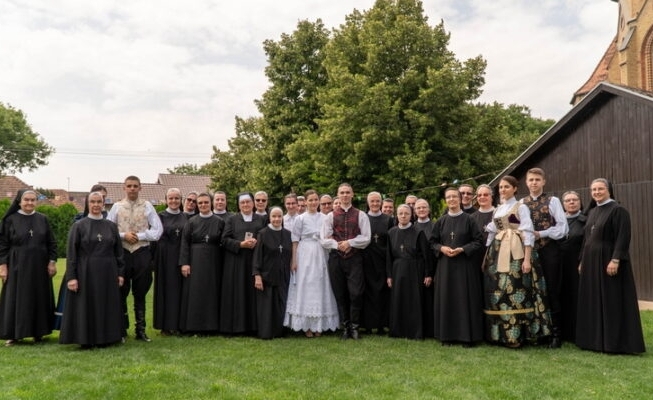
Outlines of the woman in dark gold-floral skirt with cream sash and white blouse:
M 501 204 L 487 225 L 489 249 L 484 265 L 486 338 L 520 347 L 551 334 L 546 285 L 533 251 L 533 222 L 528 207 L 515 199 L 518 182 L 499 182 Z

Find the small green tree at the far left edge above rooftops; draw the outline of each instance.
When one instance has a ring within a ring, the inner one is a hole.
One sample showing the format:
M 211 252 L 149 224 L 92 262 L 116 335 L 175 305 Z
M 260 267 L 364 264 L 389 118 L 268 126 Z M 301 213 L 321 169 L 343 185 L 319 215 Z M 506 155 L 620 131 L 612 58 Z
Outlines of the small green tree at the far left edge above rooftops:
M 32 131 L 22 111 L 0 102 L 0 174 L 33 171 L 54 152 Z

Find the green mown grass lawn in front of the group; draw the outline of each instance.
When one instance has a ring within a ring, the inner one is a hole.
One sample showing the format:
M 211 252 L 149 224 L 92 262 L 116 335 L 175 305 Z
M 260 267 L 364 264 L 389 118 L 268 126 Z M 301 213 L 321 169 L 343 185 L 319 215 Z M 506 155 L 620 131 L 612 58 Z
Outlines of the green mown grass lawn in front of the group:
M 58 278 L 63 274 L 60 266 Z M 59 279 L 55 287 L 59 286 Z M 151 305 L 148 309 L 151 320 Z M 642 312 L 653 351 L 653 311 Z M 151 324 L 150 324 L 151 327 Z M 653 356 L 367 336 L 133 339 L 105 349 L 0 348 L 0 399 L 649 399 Z

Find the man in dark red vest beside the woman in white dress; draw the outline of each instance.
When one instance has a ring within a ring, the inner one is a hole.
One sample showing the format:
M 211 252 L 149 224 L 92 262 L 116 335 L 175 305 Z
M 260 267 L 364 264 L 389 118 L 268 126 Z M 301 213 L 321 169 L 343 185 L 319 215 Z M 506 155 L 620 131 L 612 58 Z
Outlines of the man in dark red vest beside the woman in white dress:
M 370 220 L 354 208 L 354 190 L 348 183 L 338 186 L 340 207 L 324 219 L 320 239 L 329 252 L 329 280 L 343 327 L 341 339 L 358 339 L 363 306 L 363 250 L 370 243 Z

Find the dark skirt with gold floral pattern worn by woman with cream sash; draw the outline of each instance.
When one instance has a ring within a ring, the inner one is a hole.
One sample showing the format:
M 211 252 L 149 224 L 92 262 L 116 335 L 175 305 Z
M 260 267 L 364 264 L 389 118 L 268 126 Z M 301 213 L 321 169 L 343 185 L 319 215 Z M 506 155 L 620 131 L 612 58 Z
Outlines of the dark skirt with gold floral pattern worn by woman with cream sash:
M 501 241 L 495 240 L 485 256 L 486 338 L 509 347 L 524 341 L 537 343 L 551 335 L 551 312 L 546 282 L 537 252 L 531 254 L 531 272 L 521 271 L 522 260 L 510 260 L 509 272 L 497 271 Z

